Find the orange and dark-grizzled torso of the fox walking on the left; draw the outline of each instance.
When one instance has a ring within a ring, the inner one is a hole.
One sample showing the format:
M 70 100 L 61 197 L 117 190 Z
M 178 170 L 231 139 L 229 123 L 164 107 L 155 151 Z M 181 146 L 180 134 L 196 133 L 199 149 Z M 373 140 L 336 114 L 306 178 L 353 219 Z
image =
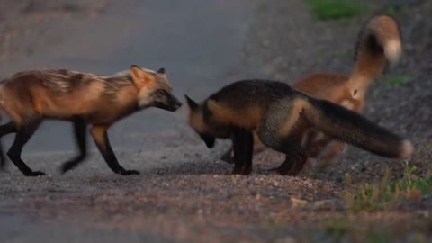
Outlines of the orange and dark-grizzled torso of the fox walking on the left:
M 0 100 L 6 111 L 31 109 L 45 117 L 68 119 L 96 110 L 109 111 L 110 101 L 124 86 L 133 87 L 128 77 L 112 80 L 63 69 L 26 71 L 2 82 Z

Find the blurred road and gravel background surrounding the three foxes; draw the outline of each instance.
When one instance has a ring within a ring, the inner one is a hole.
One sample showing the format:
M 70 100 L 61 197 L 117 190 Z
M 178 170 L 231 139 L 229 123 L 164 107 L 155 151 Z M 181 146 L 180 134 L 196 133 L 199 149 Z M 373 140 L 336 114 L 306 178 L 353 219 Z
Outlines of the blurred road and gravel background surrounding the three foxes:
M 143 175 L 113 175 L 98 153 L 58 175 L 76 153 L 71 125 L 45 121 L 23 157 L 48 176 L 24 178 L 10 162 L 0 173 L 0 242 L 390 242 L 412 234 L 425 240 L 411 242 L 428 242 L 430 192 L 404 208 L 373 202 L 403 210 L 366 213 L 358 225 L 344 196 L 387 175 L 429 178 L 432 191 L 430 0 L 0 0 L 0 78 L 40 68 L 109 76 L 131 64 L 165 67 L 179 99 L 201 101 L 244 78 L 292 84 L 312 72 L 349 75 L 358 32 L 378 13 L 401 24 L 403 55 L 370 88 L 364 114 L 411 139 L 410 160 L 349 148 L 326 172 L 292 178 L 268 172 L 284 157 L 266 151 L 253 175 L 225 176 L 232 167 L 219 157 L 229 143 L 205 148 L 184 105 L 138 112 L 110 129 L 121 165 Z M 4 148 L 13 138 L 2 139 Z M 369 199 L 367 212 L 375 209 Z M 338 217 L 320 222 L 324 214 Z

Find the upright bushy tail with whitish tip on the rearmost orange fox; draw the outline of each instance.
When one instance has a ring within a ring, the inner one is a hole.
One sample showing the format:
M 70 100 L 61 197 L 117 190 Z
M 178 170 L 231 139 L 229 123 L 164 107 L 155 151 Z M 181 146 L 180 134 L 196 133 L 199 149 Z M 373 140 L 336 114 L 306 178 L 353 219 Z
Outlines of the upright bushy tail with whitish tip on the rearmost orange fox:
M 401 57 L 401 49 L 401 31 L 392 16 L 377 15 L 369 20 L 358 36 L 353 82 L 362 80 L 356 76 L 372 80 L 383 74 L 387 61 L 393 63 Z

